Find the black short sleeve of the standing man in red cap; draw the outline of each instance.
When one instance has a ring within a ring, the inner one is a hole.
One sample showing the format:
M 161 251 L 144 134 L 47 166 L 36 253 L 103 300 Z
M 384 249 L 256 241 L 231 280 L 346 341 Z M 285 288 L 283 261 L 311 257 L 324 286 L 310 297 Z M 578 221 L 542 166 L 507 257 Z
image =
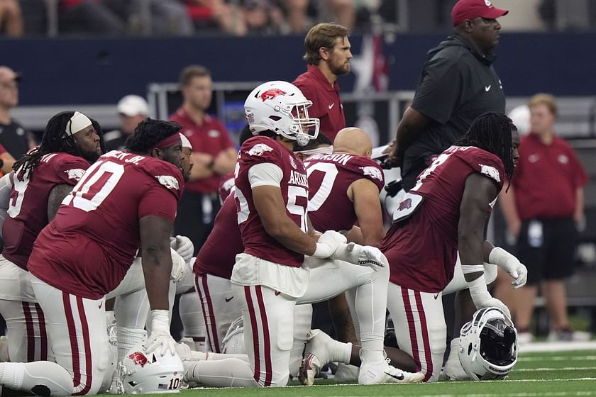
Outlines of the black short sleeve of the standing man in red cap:
M 461 76 L 456 62 L 443 57 L 433 58 L 424 67 L 412 108 L 445 124 L 459 104 L 461 91 Z

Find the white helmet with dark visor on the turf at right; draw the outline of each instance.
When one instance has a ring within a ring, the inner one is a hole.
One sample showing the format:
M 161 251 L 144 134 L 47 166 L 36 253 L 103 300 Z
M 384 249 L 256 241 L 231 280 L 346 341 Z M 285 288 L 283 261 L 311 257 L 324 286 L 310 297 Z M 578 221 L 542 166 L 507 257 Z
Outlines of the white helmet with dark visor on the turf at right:
M 459 359 L 476 381 L 504 379 L 517 362 L 517 330 L 500 308 L 482 308 L 460 332 Z

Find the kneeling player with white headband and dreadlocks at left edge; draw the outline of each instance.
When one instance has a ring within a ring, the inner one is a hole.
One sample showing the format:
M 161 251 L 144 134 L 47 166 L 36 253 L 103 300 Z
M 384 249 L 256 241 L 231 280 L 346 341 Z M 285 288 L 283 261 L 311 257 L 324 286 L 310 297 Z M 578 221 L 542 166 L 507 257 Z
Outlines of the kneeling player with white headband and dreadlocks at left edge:
M 27 261 L 33 242 L 56 214 L 84 170 L 101 155 L 99 124 L 79 112 L 50 119 L 41 145 L 0 180 L 4 251 L 0 255 L 0 313 L 6 319 L 13 362 L 48 359 L 43 311 L 33 294 Z

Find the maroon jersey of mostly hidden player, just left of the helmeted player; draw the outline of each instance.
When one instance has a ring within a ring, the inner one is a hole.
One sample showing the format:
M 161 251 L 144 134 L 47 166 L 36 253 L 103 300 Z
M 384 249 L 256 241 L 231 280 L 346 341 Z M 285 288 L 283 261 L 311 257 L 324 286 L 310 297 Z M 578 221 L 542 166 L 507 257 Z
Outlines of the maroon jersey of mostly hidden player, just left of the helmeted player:
M 223 206 L 215 217 L 213 230 L 201 247 L 192 272 L 212 274 L 229 280 L 236 262 L 236 255 L 242 252 L 244 252 L 244 246 L 238 227 L 236 202 L 234 195 L 231 194 L 226 201 L 223 201 Z

